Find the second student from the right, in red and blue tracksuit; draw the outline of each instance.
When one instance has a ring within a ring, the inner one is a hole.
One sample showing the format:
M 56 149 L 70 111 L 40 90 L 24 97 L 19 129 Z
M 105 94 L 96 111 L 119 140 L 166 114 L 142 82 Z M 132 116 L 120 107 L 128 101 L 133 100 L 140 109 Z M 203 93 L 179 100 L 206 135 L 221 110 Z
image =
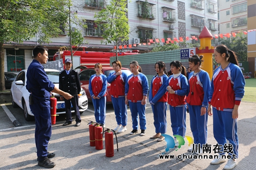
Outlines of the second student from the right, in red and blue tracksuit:
M 206 71 L 202 70 L 203 56 L 194 55 L 189 57 L 188 63 L 191 68 L 188 77 L 189 93 L 187 95 L 187 107 L 189 109 L 190 129 L 193 133 L 194 143 L 197 144 L 196 154 L 202 154 L 202 144 L 207 142 L 208 98 L 210 90 L 210 78 Z M 199 145 L 200 144 L 200 145 Z M 200 149 L 199 149 L 200 146 Z M 192 147 L 188 151 L 192 151 Z

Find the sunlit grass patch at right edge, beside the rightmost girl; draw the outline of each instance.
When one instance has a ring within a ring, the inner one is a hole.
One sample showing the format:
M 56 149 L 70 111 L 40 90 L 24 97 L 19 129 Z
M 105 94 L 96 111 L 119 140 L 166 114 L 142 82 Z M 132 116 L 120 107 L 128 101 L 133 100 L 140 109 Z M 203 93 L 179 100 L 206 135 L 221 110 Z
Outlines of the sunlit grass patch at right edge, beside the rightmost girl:
M 242 102 L 256 103 L 256 79 L 245 79 L 245 93 Z

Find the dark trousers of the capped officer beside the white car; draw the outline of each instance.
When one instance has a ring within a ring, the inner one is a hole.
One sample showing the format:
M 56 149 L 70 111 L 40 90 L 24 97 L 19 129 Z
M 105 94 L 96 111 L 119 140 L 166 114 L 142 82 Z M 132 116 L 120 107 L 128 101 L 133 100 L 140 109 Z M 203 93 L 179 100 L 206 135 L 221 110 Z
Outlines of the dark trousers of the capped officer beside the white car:
M 78 108 L 78 100 L 79 100 L 79 98 L 77 95 L 74 95 L 73 98 L 71 98 L 70 100 L 67 100 L 64 98 L 65 110 L 66 110 L 66 122 L 72 122 L 71 103 L 75 110 L 76 123 L 81 122 L 80 112 L 79 112 L 79 108 Z

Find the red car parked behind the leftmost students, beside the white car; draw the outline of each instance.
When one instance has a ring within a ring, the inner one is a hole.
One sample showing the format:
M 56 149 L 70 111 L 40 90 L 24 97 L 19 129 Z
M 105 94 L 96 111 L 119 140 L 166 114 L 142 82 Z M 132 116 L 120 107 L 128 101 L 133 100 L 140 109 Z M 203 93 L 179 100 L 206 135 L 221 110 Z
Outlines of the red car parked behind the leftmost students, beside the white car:
M 80 67 L 79 67 L 80 68 Z M 121 68 L 122 74 L 126 74 L 127 76 L 131 75 L 132 72 L 128 68 Z M 102 67 L 102 73 L 108 77 L 110 72 L 114 71 L 113 67 Z M 96 74 L 96 71 L 94 70 L 94 67 L 86 68 L 79 72 L 79 79 L 81 82 L 81 87 L 86 91 L 86 95 L 88 97 L 89 102 L 92 102 L 92 96 L 90 95 L 89 91 L 89 79 L 92 75 Z M 108 83 L 108 87 L 106 89 L 106 104 L 111 104 L 111 94 L 110 94 L 110 84 Z

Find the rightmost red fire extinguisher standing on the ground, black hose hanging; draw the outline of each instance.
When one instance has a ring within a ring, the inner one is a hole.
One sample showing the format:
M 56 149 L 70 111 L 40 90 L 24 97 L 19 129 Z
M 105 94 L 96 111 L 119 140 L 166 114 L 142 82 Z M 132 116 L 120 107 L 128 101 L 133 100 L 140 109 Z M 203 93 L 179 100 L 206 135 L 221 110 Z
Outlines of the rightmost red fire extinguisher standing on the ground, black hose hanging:
M 116 135 L 114 130 L 107 129 L 105 130 L 105 149 L 106 149 L 106 157 L 113 157 L 114 156 L 114 140 L 113 140 L 113 132 Z M 118 152 L 118 143 L 116 137 L 116 145 L 117 145 L 117 152 Z

